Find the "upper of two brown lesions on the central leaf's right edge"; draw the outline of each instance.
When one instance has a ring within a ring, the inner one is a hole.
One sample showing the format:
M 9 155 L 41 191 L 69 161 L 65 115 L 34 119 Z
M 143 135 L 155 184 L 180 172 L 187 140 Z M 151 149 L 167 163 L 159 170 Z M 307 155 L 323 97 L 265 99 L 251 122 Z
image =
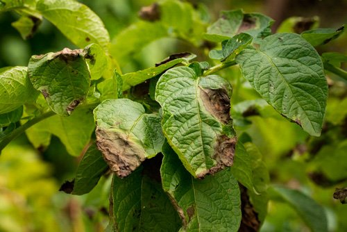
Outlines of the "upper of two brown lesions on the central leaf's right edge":
M 210 90 L 200 88 L 200 96 L 208 113 L 223 124 L 230 122 L 230 98 L 225 89 Z

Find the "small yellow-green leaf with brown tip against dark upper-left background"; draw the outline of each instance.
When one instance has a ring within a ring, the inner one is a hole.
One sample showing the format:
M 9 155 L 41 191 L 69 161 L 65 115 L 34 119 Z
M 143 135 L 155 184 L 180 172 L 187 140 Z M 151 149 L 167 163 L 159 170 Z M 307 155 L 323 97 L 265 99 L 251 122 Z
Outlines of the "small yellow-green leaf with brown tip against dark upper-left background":
M 42 17 L 22 16 L 16 22 L 12 22 L 11 25 L 19 31 L 24 40 L 27 40 L 33 37 L 41 22 Z

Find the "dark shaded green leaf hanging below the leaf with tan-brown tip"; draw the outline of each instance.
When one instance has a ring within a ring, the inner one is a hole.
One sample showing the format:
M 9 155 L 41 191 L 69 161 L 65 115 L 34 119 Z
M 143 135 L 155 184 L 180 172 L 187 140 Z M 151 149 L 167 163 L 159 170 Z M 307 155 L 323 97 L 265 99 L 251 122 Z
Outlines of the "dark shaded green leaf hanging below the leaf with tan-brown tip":
M 167 194 L 142 169 L 125 179 L 113 177 L 111 219 L 116 231 L 178 231 L 180 218 Z

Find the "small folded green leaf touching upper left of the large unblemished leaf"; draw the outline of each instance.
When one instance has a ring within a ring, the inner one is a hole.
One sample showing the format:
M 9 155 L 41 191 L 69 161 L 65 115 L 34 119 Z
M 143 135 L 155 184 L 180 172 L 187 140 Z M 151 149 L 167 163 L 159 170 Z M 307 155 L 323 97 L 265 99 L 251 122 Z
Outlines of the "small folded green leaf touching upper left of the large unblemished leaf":
M 253 40 L 251 35 L 239 33 L 233 36 L 230 40 L 221 42 L 221 51 L 211 50 L 210 58 L 217 58 L 221 61 L 234 60 L 235 57 Z

